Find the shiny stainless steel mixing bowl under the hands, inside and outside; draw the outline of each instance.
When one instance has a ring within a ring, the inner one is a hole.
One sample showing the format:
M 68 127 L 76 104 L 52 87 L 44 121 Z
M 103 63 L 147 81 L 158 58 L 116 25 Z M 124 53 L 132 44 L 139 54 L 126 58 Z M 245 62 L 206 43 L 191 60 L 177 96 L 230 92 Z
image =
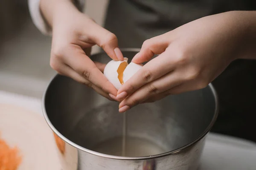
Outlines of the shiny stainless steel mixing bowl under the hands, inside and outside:
M 132 58 L 139 49 L 123 49 Z M 93 55 L 107 63 L 105 53 Z M 57 75 L 43 100 L 44 116 L 52 130 L 79 151 L 79 170 L 196 170 L 204 136 L 217 117 L 217 96 L 212 85 L 158 102 L 138 105 L 127 112 L 127 137 L 147 140 L 163 153 L 122 157 L 98 153 L 95 147 L 122 136 L 118 103 L 90 88 Z M 120 142 L 120 148 L 122 143 Z M 115 145 L 115 147 L 119 147 Z M 147 165 L 147 166 L 145 166 Z

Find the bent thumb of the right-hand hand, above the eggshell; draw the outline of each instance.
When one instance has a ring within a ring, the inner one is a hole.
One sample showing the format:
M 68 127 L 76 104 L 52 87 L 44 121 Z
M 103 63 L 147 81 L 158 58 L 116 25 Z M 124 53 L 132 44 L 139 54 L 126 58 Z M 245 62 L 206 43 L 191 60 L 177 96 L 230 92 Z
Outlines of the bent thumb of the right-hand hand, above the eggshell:
M 149 61 L 154 55 L 163 53 L 168 45 L 169 43 L 164 34 L 145 40 L 140 52 L 134 56 L 131 62 L 140 64 Z

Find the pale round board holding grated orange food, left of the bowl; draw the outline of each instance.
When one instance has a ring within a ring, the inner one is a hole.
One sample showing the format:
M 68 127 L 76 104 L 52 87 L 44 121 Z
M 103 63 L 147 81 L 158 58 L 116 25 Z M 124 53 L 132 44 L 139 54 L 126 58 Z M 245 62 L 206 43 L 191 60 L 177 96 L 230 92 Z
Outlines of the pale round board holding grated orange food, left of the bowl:
M 18 148 L 17 170 L 77 170 L 77 150 L 65 144 L 61 153 L 44 117 L 35 111 L 0 103 L 0 139 Z

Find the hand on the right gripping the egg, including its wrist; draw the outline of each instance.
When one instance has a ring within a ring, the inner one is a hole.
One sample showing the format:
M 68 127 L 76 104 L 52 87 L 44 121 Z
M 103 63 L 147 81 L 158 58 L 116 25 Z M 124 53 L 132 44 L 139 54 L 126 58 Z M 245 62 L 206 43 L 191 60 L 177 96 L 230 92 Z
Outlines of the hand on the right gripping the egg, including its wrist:
M 146 40 L 132 62 L 160 55 L 119 89 L 117 99 L 123 99 L 119 112 L 170 94 L 205 88 L 241 54 L 244 23 L 240 15 L 227 12 L 204 17 Z

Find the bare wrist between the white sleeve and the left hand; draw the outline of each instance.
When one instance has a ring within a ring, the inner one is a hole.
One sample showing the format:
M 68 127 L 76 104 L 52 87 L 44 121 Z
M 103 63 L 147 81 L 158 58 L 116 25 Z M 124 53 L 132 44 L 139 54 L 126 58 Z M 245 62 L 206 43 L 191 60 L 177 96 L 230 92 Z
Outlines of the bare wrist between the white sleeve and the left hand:
M 74 0 L 41 0 L 40 10 L 48 25 L 52 28 L 55 16 L 61 13 L 79 12 L 73 4 Z

